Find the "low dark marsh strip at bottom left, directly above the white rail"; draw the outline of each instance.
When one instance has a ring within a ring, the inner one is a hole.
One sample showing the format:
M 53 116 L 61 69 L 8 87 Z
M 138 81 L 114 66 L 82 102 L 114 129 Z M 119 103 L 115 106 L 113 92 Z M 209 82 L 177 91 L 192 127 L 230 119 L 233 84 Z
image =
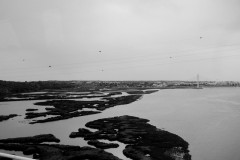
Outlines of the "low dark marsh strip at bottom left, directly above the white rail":
M 102 149 L 60 144 L 0 143 L 0 149 L 22 151 L 39 160 L 120 160 Z

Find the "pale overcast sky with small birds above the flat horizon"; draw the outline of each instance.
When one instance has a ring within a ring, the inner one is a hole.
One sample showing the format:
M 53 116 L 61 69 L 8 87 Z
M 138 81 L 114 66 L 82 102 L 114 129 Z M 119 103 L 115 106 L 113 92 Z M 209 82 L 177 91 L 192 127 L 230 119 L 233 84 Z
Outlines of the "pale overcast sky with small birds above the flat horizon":
M 240 81 L 239 0 L 0 0 L 0 79 Z

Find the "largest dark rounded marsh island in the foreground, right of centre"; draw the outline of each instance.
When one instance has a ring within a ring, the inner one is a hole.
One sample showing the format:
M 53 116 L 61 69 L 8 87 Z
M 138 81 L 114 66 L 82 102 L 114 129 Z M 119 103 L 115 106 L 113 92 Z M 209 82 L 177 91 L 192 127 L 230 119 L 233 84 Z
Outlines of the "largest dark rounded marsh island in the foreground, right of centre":
M 104 118 L 88 122 L 86 127 L 98 129 L 91 132 L 79 129 L 70 137 L 85 140 L 106 139 L 127 144 L 123 153 L 134 160 L 190 160 L 188 143 L 170 132 L 150 125 L 149 120 L 132 116 Z

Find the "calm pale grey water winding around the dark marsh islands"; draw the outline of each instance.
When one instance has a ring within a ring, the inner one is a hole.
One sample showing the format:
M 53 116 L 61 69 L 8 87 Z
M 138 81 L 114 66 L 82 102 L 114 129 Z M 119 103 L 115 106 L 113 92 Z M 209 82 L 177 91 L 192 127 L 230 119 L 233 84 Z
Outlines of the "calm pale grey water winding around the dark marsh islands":
M 1 102 L 0 113 L 23 114 L 27 108 L 44 110 L 43 106 L 34 106 L 34 102 Z M 70 139 L 69 134 L 88 121 L 121 115 L 147 118 L 158 128 L 181 136 L 190 144 L 193 160 L 240 159 L 240 88 L 160 90 L 101 114 L 46 124 L 29 125 L 24 116 L 19 116 L 0 123 L 0 139 L 53 133 L 63 144 L 84 146 L 86 142 Z M 109 151 L 124 158 L 119 150 Z

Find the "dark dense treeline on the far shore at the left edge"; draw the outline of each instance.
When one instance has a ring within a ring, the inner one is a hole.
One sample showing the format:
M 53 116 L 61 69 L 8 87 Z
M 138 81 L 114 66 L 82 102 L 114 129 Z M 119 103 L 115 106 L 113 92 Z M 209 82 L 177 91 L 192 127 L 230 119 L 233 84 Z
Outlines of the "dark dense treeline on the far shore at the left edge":
M 74 87 L 74 84 L 67 81 L 13 82 L 0 80 L 0 98 L 13 93 L 36 92 L 44 89 L 64 89 Z

